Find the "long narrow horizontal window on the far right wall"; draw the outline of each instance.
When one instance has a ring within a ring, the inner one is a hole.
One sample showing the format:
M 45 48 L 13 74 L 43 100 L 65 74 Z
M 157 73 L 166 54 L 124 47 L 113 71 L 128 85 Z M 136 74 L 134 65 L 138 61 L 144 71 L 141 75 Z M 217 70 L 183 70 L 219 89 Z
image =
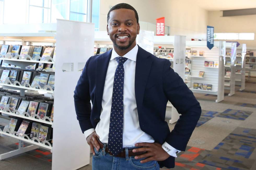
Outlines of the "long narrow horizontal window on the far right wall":
M 254 40 L 254 33 L 214 33 L 215 40 Z

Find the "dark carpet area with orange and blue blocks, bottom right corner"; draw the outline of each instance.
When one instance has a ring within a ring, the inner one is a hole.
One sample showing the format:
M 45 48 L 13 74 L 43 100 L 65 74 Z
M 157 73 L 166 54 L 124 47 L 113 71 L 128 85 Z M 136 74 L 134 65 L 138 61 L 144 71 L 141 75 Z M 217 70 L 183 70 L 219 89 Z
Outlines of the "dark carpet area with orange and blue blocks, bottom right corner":
M 212 151 L 187 147 L 178 154 L 175 170 L 249 170 L 256 163 L 256 130 L 236 128 Z

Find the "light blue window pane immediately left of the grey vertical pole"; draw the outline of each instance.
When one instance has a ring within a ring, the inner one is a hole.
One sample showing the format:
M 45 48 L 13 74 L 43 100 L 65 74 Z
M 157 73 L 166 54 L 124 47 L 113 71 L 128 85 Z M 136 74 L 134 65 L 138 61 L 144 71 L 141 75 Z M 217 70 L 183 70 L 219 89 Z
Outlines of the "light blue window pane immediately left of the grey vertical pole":
M 87 0 L 70 0 L 69 20 L 87 22 Z

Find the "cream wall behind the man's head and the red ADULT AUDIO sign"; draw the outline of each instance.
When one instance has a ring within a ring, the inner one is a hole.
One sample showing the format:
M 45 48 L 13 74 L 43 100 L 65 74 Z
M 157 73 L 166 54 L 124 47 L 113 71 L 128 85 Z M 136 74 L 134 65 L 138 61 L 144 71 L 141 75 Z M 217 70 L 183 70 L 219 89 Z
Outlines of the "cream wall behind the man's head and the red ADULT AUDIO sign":
M 165 17 L 165 25 L 170 26 L 170 35 L 185 35 L 188 40 L 206 38 L 208 12 L 185 0 L 101 0 L 101 31 L 106 30 L 109 9 L 118 3 L 132 5 L 138 12 L 139 21 L 156 23 L 156 18 Z

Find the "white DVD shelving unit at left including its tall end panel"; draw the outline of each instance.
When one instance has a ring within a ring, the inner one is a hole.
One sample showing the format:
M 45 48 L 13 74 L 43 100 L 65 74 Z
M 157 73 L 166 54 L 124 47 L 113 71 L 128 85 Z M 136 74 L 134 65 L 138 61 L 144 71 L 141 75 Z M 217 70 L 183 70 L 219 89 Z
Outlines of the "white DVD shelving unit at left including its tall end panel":
M 19 140 L 19 149 L 1 154 L 0 159 L 3 160 L 36 148 L 44 148 L 53 153 L 52 169 L 69 170 L 88 165 L 90 162 L 90 147 L 86 144 L 76 118 L 73 91 L 81 75 L 81 69 L 84 67 L 86 60 L 93 55 L 94 24 L 57 20 L 57 23 L 54 24 L 26 24 L 22 25 L 22 29 L 18 29 L 21 26 L 16 25 L 15 28 L 11 25 L 1 26 L 0 40 L 4 42 L 21 41 L 23 45 L 31 45 L 33 42 L 52 42 L 53 44 L 56 42 L 56 59 L 50 61 L 55 64 L 55 89 L 52 91 L 52 89 L 23 87 L 10 84 L 8 81 L 2 82 L 1 85 L 3 88 L 21 90 L 21 95 L 29 90 L 34 93 L 43 92 L 46 96 L 54 97 L 54 122 L 47 118 L 30 117 L 26 112 L 16 115 L 15 112 L 10 112 L 8 107 L 0 112 L 9 116 L 52 125 L 53 146 L 51 147 L 48 141 L 41 143 L 36 138 L 29 139 L 27 135 L 15 136 L 16 132 L 8 133 L 8 126 L 0 127 L 1 136 L 13 137 Z M 6 58 L 4 62 L 20 65 L 23 68 L 26 65 L 31 65 L 31 63 L 46 61 Z M 23 147 L 22 142 L 31 145 Z

